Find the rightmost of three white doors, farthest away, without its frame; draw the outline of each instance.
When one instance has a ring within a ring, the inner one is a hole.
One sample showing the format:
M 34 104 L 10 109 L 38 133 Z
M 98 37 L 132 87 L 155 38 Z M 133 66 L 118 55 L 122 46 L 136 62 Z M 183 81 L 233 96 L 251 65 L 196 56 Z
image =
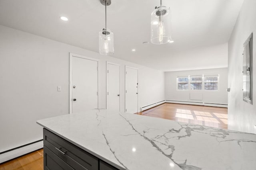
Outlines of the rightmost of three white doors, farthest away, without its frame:
M 138 69 L 126 66 L 125 75 L 125 111 L 138 112 Z

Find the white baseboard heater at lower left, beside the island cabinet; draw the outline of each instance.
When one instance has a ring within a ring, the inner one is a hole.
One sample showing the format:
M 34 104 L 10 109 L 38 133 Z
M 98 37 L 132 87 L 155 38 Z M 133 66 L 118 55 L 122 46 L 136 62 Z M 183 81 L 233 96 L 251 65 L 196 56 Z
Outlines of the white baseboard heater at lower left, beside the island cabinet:
M 6 162 L 13 158 L 17 158 L 17 157 L 27 154 L 29 152 L 33 152 L 34 150 L 41 149 L 41 148 L 43 148 L 43 146 L 44 146 L 43 141 L 39 141 L 37 143 L 33 143 L 31 145 L 27 145 L 27 146 L 0 154 L 0 163 Z

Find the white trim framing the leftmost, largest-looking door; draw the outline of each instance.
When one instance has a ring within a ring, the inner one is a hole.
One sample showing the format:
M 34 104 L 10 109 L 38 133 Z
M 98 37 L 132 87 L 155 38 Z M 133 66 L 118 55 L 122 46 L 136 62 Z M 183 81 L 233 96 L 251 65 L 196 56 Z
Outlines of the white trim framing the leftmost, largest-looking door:
M 97 95 L 97 107 L 99 107 L 99 59 L 94 59 L 91 57 L 86 57 L 83 55 L 79 55 L 79 54 L 74 54 L 74 53 L 69 53 L 69 113 L 72 113 L 72 57 L 78 57 L 78 58 L 82 58 L 82 59 L 88 59 L 88 60 L 92 60 L 92 61 L 97 61 L 97 67 L 98 67 L 98 71 L 97 71 L 97 90 L 98 90 L 98 95 Z

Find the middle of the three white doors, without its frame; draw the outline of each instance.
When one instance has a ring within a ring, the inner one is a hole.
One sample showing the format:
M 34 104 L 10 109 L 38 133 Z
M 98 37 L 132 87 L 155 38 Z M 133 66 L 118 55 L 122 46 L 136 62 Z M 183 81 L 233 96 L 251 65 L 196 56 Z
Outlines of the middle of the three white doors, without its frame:
M 107 63 L 107 109 L 120 111 L 120 66 Z

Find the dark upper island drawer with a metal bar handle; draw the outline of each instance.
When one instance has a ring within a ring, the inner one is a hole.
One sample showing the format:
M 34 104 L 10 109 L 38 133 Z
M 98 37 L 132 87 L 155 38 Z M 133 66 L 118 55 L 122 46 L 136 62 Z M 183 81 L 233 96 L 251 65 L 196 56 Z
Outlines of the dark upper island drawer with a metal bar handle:
M 76 170 L 98 170 L 98 158 L 44 129 L 44 146 Z

